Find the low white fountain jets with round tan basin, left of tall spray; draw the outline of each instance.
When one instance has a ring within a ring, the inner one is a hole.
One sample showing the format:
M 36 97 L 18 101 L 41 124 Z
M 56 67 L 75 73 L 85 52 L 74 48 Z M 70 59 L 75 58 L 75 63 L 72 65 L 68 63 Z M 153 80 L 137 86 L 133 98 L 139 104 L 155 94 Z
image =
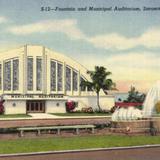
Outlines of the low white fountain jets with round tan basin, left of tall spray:
M 129 106 L 117 108 L 112 114 L 111 131 L 144 133 L 150 128 L 150 119 L 143 119 L 142 111 Z

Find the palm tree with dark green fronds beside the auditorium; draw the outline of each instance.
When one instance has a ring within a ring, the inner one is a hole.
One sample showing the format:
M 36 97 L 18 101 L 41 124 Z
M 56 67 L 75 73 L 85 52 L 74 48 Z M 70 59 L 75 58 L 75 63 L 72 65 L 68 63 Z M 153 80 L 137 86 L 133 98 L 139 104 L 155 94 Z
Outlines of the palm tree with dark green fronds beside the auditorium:
M 94 71 L 87 71 L 87 73 L 91 77 L 90 81 L 82 81 L 81 86 L 87 87 L 90 90 L 93 90 L 97 94 L 97 106 L 99 108 L 99 111 L 101 111 L 101 107 L 99 104 L 99 92 L 102 89 L 105 94 L 108 94 L 108 90 L 116 89 L 115 83 L 112 81 L 112 79 L 108 79 L 107 77 L 111 75 L 112 73 L 109 71 L 106 71 L 107 69 L 103 66 L 95 66 Z

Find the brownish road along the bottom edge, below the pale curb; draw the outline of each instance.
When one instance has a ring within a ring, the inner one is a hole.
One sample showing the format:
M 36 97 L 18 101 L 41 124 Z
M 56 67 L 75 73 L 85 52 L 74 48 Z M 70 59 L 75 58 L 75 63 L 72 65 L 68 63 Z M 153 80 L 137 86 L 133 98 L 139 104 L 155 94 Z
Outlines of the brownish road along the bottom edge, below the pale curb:
M 160 147 L 1 157 L 0 160 L 160 160 Z

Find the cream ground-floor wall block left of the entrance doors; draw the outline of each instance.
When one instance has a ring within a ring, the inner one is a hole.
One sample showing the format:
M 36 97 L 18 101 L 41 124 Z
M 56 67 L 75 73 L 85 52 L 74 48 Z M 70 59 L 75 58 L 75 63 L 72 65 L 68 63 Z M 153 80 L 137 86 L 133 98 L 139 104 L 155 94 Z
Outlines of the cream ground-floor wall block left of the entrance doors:
M 5 114 L 26 114 L 25 100 L 6 100 L 4 102 Z

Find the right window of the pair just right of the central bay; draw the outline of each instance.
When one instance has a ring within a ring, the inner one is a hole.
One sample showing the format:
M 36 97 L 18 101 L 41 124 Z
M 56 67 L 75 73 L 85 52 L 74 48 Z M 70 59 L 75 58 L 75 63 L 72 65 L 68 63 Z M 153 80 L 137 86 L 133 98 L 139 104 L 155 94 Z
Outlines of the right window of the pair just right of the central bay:
M 58 68 L 57 68 L 58 91 L 62 91 L 62 72 L 63 72 L 63 66 L 62 64 L 58 63 Z

